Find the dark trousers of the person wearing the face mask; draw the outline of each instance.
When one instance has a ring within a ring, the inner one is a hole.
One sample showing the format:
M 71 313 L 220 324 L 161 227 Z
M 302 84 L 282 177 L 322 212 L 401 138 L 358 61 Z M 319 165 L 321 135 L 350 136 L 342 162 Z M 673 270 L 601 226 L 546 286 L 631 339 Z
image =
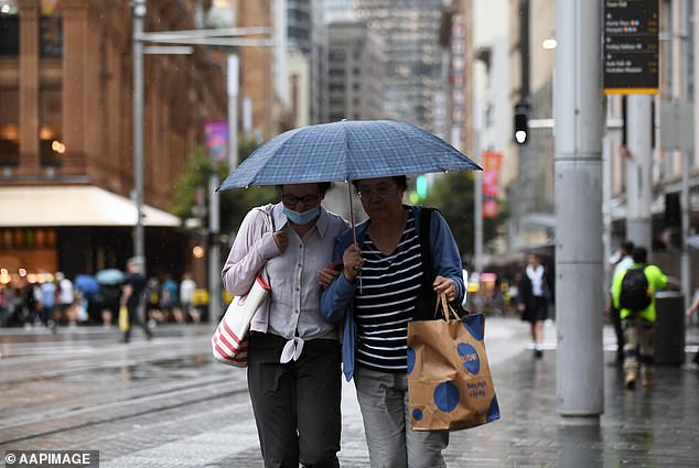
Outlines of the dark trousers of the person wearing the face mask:
M 281 364 L 286 341 L 261 333 L 249 339 L 248 389 L 265 467 L 338 467 L 340 342 L 305 341 L 298 361 Z

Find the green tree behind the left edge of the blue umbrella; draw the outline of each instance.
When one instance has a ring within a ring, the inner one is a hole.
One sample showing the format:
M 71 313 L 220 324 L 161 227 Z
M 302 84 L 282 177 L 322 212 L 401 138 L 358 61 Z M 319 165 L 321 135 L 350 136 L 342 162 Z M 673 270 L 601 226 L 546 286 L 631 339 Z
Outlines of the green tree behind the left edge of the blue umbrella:
M 238 153 L 241 161 L 245 160 L 255 149 L 254 141 L 241 140 L 238 144 Z M 187 159 L 187 164 L 182 176 L 172 187 L 171 210 L 182 219 L 201 217 L 202 224 L 206 226 L 205 213 L 197 213 L 197 198 L 202 204 L 208 206 L 208 177 L 216 174 L 223 181 L 229 173 L 226 162 L 212 162 L 206 150 L 196 146 Z M 202 195 L 197 196 L 197 192 Z M 221 198 L 221 231 L 224 233 L 235 232 L 245 215 L 250 208 L 278 199 L 275 187 L 251 187 L 235 191 L 219 192 Z

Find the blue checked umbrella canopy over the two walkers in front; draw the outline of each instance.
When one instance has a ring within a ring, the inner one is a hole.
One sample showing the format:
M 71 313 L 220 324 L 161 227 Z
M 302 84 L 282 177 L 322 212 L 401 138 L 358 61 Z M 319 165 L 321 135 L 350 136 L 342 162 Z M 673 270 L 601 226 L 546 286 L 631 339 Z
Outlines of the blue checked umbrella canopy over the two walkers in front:
M 481 167 L 409 123 L 343 120 L 281 133 L 252 152 L 218 189 L 415 175 Z

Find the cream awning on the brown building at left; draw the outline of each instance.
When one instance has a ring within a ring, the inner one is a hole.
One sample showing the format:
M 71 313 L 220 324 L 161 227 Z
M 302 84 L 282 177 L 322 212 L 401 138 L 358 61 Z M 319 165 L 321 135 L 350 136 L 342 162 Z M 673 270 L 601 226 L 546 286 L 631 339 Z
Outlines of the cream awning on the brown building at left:
M 180 218 L 143 205 L 143 226 Z M 0 187 L 0 227 L 135 226 L 136 204 L 93 185 Z

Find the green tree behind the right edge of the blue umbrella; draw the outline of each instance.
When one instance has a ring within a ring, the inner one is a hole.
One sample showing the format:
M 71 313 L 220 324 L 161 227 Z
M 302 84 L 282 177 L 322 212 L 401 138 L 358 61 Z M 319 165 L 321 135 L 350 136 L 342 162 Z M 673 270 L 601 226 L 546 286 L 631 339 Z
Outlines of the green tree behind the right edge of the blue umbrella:
M 453 172 L 438 177 L 429 191 L 424 205 L 439 208 L 459 246 L 462 255 L 473 254 L 474 230 L 474 173 Z M 483 243 L 494 240 L 504 229 L 507 207 L 498 199 L 499 213 L 495 218 L 483 220 Z

